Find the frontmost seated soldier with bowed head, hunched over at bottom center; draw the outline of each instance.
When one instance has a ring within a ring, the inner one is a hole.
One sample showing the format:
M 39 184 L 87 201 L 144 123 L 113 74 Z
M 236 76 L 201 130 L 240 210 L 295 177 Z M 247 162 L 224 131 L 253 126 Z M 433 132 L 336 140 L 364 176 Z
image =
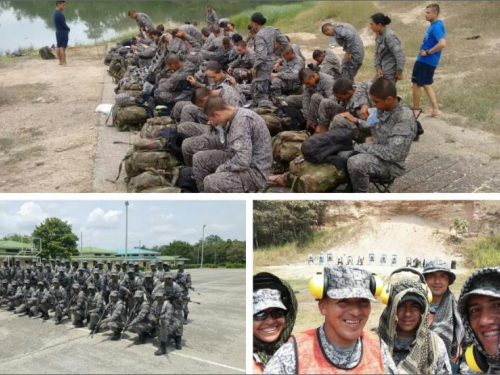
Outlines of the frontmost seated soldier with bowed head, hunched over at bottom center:
M 225 130 L 223 147 L 200 151 L 193 158 L 196 184 L 204 192 L 249 192 L 265 187 L 271 172 L 271 136 L 255 112 L 209 98 L 205 114 Z

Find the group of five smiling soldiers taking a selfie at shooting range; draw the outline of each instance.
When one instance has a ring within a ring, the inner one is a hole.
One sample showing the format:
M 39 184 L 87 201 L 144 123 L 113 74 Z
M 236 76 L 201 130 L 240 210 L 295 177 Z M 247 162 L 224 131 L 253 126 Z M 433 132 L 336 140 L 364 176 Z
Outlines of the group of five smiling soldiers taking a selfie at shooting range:
M 384 282 L 363 268 L 325 267 L 309 282 L 324 323 L 292 334 L 300 310 L 294 290 L 256 274 L 254 373 L 498 374 L 500 268 L 473 272 L 458 298 L 449 288 L 455 280 L 439 259 L 422 272 L 395 269 Z M 377 302 L 385 305 L 378 325 L 366 327 Z

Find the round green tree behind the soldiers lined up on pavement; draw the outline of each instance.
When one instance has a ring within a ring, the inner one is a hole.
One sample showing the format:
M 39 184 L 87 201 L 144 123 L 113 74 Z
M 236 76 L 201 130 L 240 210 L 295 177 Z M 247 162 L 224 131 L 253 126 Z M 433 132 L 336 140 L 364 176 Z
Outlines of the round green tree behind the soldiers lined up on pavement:
M 69 258 L 77 254 L 78 236 L 72 232 L 72 227 L 57 217 L 45 219 L 35 227 L 33 237 L 42 239 L 42 257 Z

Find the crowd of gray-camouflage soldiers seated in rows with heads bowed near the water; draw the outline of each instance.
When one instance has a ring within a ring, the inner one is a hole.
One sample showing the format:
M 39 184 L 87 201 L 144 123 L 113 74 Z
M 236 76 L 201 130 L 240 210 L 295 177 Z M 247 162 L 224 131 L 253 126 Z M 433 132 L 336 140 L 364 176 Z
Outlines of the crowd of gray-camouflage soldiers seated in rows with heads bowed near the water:
M 243 40 L 234 24 L 214 21 L 211 12 L 207 7 L 201 30 L 195 22 L 164 30 L 136 19 L 142 37 L 131 41 L 135 62 L 116 89 L 139 83 L 151 109 L 163 108 L 175 121 L 183 134 L 182 164 L 191 168 L 199 192 L 290 187 L 287 173 L 273 175 L 276 132 L 260 116 L 265 111 L 293 109 L 298 126 L 280 130 L 307 132 L 306 160 L 311 152 L 304 149 L 326 150 L 327 156 L 316 153 L 310 161 L 334 160 L 351 191 L 367 192 L 373 177 L 393 181 L 404 173 L 416 118 L 393 79 L 354 84 L 364 57 L 354 27 L 325 24 L 323 33 L 334 34 L 346 56 L 340 62 L 330 49 L 315 50 L 315 63 L 306 66 L 300 47 L 267 26 L 261 13 L 252 15 Z

